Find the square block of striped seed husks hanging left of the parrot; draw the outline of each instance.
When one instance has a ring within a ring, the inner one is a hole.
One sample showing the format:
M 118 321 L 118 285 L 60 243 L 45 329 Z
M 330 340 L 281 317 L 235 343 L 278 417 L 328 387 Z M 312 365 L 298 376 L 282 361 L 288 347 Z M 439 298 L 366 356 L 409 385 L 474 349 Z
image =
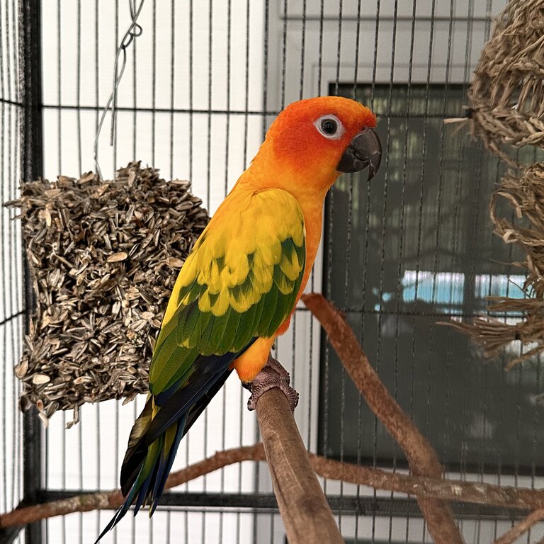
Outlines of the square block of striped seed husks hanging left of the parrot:
M 188 181 L 132 162 L 21 187 L 35 307 L 21 362 L 21 407 L 47 419 L 84 402 L 147 392 L 149 362 L 179 268 L 208 212 Z M 72 422 L 69 424 L 71 425 Z

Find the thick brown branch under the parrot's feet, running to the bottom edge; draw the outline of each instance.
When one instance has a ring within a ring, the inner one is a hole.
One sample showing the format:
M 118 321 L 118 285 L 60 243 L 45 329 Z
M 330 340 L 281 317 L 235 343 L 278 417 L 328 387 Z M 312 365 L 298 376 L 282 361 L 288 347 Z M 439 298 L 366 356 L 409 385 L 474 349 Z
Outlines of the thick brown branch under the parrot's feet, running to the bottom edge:
M 256 412 L 289 543 L 344 543 L 283 392 L 265 392 Z

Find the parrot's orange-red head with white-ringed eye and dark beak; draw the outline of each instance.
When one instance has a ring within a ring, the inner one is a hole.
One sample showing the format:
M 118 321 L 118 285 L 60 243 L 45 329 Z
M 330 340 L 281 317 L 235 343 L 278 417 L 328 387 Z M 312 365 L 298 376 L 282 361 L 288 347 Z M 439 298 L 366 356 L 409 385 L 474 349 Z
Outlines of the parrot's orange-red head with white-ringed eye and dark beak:
M 310 189 L 327 190 L 341 172 L 367 166 L 370 179 L 381 158 L 375 125 L 375 115 L 349 98 L 322 96 L 294 102 L 272 123 L 255 161 L 266 157 L 268 171 L 303 179 Z

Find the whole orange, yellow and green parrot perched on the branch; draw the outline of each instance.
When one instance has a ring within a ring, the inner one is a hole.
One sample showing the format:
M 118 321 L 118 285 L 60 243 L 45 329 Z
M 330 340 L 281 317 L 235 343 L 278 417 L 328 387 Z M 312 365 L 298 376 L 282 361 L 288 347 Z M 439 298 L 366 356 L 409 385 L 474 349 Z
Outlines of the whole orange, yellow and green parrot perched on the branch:
M 259 373 L 305 288 L 321 238 L 327 191 L 341 172 L 380 166 L 375 115 L 336 96 L 290 104 L 183 264 L 149 368 L 149 397 L 121 468 L 123 506 L 157 507 L 183 435 L 233 369 L 257 387 L 285 387 L 285 370 Z M 276 375 L 276 380 L 273 376 Z M 98 542 L 97 540 L 97 542 Z

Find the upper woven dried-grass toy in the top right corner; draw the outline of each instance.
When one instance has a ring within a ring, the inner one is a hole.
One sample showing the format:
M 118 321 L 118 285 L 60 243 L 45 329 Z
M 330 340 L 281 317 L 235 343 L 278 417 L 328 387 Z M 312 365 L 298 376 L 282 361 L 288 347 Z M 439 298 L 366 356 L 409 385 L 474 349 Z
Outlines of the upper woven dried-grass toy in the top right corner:
M 502 145 L 544 147 L 544 0 L 510 0 L 469 91 L 472 134 L 511 166 Z

